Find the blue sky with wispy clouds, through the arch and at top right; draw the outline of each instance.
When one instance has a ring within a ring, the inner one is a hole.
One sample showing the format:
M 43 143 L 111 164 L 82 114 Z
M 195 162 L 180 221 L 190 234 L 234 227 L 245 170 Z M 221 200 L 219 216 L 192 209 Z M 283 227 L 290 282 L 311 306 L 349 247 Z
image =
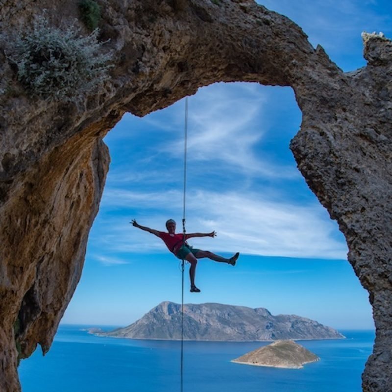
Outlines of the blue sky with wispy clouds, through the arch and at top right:
M 343 71 L 366 65 L 362 31 L 392 37 L 392 5 L 377 0 L 266 0 Z M 111 166 L 90 233 L 82 279 L 64 323 L 128 325 L 164 300 L 181 301 L 180 262 L 129 224 L 181 227 L 184 99 L 143 119 L 125 114 L 107 135 Z M 372 328 L 368 293 L 346 261 L 335 221 L 308 189 L 289 149 L 301 113 L 291 88 L 220 83 L 189 97 L 187 231 L 231 267 L 199 261 L 185 302 L 265 307 L 329 326 Z

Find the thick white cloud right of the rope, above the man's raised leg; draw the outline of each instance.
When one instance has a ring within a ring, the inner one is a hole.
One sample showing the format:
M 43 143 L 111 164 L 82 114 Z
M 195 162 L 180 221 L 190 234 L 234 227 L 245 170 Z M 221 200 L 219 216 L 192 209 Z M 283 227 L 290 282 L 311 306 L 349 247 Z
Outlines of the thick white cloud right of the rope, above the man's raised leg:
M 258 195 L 200 192 L 190 203 L 198 225 L 217 230 L 220 250 L 287 257 L 345 258 L 336 225 L 318 204 L 299 206 Z M 196 205 L 195 205 L 196 204 Z M 208 231 L 208 229 L 207 229 Z M 204 240 L 204 243 L 207 242 Z

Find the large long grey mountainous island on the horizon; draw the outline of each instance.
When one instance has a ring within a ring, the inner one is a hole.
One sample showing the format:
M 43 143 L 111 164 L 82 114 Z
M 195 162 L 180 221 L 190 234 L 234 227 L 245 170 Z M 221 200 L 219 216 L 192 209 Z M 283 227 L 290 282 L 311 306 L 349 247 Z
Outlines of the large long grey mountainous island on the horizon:
M 180 340 L 181 305 L 160 303 L 133 324 L 98 336 Z M 282 339 L 344 339 L 333 328 L 295 315 L 272 316 L 265 308 L 219 303 L 184 304 L 184 340 L 254 342 Z

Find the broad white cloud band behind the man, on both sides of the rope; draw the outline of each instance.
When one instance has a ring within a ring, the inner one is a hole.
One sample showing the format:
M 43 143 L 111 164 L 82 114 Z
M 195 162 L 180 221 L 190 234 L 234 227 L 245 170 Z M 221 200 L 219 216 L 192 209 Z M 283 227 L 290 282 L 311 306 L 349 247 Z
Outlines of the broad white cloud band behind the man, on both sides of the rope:
M 153 204 L 159 214 L 140 218 L 139 223 L 165 230 L 169 218 L 180 219 L 181 193 L 141 193 L 123 190 L 109 191 L 107 206 L 124 208 L 132 204 L 145 211 Z M 240 251 L 246 254 L 321 259 L 345 259 L 347 248 L 343 236 L 339 239 L 337 225 L 328 218 L 323 208 L 315 203 L 296 205 L 267 199 L 259 195 L 234 192 L 214 193 L 199 191 L 188 197 L 188 232 L 216 230 L 218 237 L 194 238 L 195 247 L 215 252 Z M 132 218 L 132 217 L 130 217 Z M 128 221 L 122 223 L 110 218 L 102 226 L 100 241 L 115 251 L 158 252 L 165 249 L 160 240 L 149 238 L 148 233 L 133 228 Z

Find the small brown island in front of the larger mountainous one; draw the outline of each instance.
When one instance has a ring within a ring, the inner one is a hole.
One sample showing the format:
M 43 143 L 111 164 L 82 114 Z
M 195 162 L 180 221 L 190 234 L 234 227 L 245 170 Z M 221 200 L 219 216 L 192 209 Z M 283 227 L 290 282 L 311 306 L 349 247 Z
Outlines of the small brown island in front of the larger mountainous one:
M 319 361 L 319 357 L 291 340 L 279 340 L 257 348 L 231 362 L 253 366 L 300 369 L 303 365 Z

